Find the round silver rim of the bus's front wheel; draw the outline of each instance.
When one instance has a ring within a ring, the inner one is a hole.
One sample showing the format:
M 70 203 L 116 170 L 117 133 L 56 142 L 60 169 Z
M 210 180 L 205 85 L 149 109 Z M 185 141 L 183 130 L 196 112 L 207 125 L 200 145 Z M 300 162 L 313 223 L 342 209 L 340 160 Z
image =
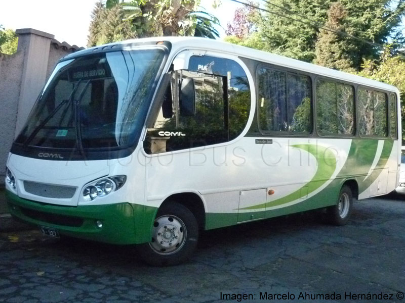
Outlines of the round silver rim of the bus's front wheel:
M 171 215 L 157 218 L 153 223 L 150 247 L 159 255 L 171 255 L 179 251 L 187 238 L 183 221 Z

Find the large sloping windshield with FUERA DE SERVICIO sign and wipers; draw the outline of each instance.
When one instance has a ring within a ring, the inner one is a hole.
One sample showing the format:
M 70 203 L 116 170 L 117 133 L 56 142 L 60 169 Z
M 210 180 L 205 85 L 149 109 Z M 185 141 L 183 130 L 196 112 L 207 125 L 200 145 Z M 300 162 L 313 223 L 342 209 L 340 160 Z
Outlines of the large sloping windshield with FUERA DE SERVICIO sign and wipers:
M 163 58 L 164 51 L 154 48 L 60 62 L 16 142 L 50 148 L 133 144 Z

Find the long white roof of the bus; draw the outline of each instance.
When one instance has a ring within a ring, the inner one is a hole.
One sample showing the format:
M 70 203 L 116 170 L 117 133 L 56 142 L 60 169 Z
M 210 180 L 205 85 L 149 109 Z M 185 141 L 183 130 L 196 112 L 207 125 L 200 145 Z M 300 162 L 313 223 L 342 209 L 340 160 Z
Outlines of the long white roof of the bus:
M 380 88 L 383 90 L 388 91 L 395 91 L 399 94 L 399 90 L 392 85 L 375 81 L 372 79 L 360 77 L 354 74 L 341 72 L 337 70 L 333 70 L 330 68 L 322 67 L 319 65 L 307 63 L 304 61 L 296 60 L 287 58 L 280 55 L 275 55 L 268 52 L 258 51 L 254 48 L 249 48 L 245 46 L 240 46 L 220 40 L 208 39 L 208 38 L 198 38 L 198 37 L 152 37 L 152 38 L 141 38 L 141 39 L 132 39 L 132 40 L 125 40 L 119 42 L 112 42 L 104 45 L 99 45 L 95 47 L 91 47 L 88 49 L 84 49 L 83 51 L 79 51 L 73 54 L 66 56 L 64 59 L 73 58 L 76 56 L 85 55 L 88 53 L 92 53 L 97 48 L 103 49 L 106 46 L 112 45 L 122 45 L 125 44 L 133 45 L 135 43 L 147 43 L 147 42 L 158 42 L 158 41 L 169 41 L 172 44 L 172 51 L 177 52 L 180 49 L 187 49 L 187 48 L 196 48 L 196 49 L 203 49 L 204 51 L 215 51 L 219 53 L 226 53 L 231 54 L 238 57 L 248 58 L 257 60 L 260 62 L 265 62 L 269 64 L 278 65 L 281 67 L 287 67 L 295 70 L 305 71 L 313 74 L 317 74 L 320 76 L 331 77 L 334 79 L 339 79 L 342 81 L 348 81 L 357 83 L 360 85 L 365 86 L 372 86 L 376 88 Z

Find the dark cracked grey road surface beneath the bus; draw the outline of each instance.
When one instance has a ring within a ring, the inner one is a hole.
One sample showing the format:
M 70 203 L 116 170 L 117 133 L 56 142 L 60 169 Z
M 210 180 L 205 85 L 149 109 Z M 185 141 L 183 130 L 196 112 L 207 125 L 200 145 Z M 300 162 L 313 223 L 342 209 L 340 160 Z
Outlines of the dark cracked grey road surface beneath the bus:
M 307 213 L 206 232 L 187 264 L 169 268 L 143 265 L 130 246 L 2 233 L 0 302 L 405 302 L 404 259 L 399 196 L 358 201 L 344 227 Z

